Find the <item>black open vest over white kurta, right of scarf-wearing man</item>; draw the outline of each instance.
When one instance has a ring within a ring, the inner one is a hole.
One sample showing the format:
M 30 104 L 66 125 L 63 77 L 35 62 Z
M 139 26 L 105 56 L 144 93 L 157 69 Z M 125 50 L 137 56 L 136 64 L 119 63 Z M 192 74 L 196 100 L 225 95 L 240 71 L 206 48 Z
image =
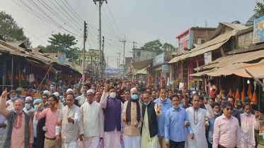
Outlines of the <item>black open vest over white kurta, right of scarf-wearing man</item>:
M 154 137 L 155 135 L 158 134 L 158 124 L 156 122 L 156 111 L 155 111 L 155 102 L 154 101 L 150 101 L 149 105 L 148 105 L 148 118 L 149 118 L 149 135 L 150 137 Z M 146 110 L 146 105 L 143 104 L 142 106 L 142 116 L 144 119 L 144 114 L 145 114 L 145 110 Z M 143 128 L 143 124 L 142 123 L 142 128 Z M 142 128 L 141 128 L 141 134 L 142 134 Z

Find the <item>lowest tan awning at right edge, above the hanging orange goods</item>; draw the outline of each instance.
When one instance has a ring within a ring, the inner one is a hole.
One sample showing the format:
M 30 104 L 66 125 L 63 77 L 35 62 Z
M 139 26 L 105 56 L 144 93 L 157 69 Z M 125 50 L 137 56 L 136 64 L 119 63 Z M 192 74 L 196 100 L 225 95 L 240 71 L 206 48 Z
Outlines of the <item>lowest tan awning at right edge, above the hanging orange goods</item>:
M 239 75 L 241 77 L 245 78 L 251 78 L 251 75 L 248 75 L 246 73 L 246 70 L 248 70 L 250 73 L 252 73 L 255 77 L 263 77 L 263 69 L 264 69 L 264 60 L 260 61 L 259 63 L 239 63 L 234 64 L 237 65 L 235 68 L 231 68 L 231 66 L 228 66 L 226 68 L 218 68 L 215 72 L 212 73 L 205 73 L 207 75 L 210 75 L 212 77 L 217 77 L 220 75 Z M 241 67 L 239 67 L 241 65 Z M 246 69 L 246 70 L 245 70 Z

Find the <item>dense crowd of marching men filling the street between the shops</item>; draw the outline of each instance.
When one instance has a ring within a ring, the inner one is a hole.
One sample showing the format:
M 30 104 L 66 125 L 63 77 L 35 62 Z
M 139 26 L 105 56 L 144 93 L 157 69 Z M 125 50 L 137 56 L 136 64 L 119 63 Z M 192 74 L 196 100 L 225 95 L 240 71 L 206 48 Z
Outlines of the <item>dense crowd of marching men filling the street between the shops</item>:
M 0 146 L 7 148 L 253 148 L 260 113 L 251 100 L 235 98 L 209 83 L 209 92 L 147 87 L 134 80 L 81 78 L 33 86 L 25 98 L 6 89 L 0 97 Z M 55 89 L 58 87 L 58 91 Z M 210 95 L 208 99 L 206 94 Z M 124 126 L 122 126 L 124 125 Z M 123 133 L 121 140 L 121 132 Z

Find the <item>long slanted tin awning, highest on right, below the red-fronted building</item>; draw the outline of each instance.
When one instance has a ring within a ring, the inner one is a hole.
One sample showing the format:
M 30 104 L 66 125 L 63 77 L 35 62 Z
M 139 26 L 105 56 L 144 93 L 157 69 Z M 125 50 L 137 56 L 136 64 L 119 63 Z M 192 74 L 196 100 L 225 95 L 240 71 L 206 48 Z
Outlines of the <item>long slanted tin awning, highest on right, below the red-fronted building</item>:
M 204 44 L 201 44 L 198 47 L 195 47 L 189 52 L 186 52 L 185 54 L 180 54 L 179 56 L 174 57 L 169 61 L 168 63 L 176 63 L 180 60 L 184 60 L 185 58 L 198 56 L 200 54 L 205 54 L 208 51 L 213 51 L 215 49 L 219 49 L 219 47 L 222 47 L 224 43 L 226 43 L 230 37 L 236 35 L 237 30 L 233 30 L 230 32 L 226 32 L 223 35 L 219 35 L 218 37 L 205 42 Z

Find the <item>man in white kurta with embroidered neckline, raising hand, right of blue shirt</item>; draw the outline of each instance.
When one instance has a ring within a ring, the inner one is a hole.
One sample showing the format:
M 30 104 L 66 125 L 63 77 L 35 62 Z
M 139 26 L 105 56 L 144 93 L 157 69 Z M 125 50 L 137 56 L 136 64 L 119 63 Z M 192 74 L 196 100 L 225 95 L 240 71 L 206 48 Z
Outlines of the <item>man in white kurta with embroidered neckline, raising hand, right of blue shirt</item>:
M 196 94 L 193 96 L 192 103 L 193 107 L 186 109 L 186 112 L 195 138 L 193 140 L 190 139 L 190 134 L 187 133 L 185 147 L 205 148 L 208 147 L 205 137 L 205 118 L 214 118 L 214 113 L 206 98 L 204 99 L 206 109 L 199 108 L 200 99 Z

